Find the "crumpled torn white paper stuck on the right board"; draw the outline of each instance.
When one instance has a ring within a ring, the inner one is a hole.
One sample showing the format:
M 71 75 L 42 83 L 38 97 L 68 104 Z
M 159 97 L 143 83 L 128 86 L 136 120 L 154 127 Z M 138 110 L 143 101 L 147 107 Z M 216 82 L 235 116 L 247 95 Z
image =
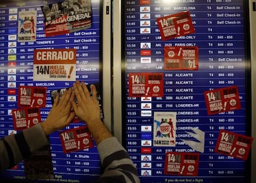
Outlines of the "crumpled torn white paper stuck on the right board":
M 185 142 L 187 145 L 189 145 L 189 147 L 193 148 L 194 150 L 203 153 L 205 151 L 205 132 L 196 128 L 190 128 L 190 129 L 194 132 L 186 131 L 187 134 L 190 134 L 190 136 L 194 137 L 199 142 L 194 140 L 184 140 L 184 139 L 181 139 L 181 140 Z

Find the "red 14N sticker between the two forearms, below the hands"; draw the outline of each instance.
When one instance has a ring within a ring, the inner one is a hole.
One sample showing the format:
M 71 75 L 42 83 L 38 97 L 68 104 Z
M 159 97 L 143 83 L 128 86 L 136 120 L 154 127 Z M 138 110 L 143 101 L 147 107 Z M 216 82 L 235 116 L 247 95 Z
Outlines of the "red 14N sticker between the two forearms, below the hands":
M 92 148 L 93 142 L 87 126 L 73 128 L 59 133 L 64 153 Z

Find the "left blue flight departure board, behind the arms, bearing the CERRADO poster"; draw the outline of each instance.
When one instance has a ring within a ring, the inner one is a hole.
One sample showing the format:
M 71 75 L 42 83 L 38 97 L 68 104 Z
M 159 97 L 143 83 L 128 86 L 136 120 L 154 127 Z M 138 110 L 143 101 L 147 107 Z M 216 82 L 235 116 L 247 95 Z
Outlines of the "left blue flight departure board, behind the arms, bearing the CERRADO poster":
M 45 121 L 56 92 L 76 79 L 101 88 L 101 6 L 98 0 L 0 2 L 1 137 Z M 100 158 L 95 142 L 82 136 L 88 129 L 75 119 L 50 134 L 49 148 L 0 173 L 0 179 L 92 182 L 100 176 Z M 40 176 L 44 164 L 51 176 Z

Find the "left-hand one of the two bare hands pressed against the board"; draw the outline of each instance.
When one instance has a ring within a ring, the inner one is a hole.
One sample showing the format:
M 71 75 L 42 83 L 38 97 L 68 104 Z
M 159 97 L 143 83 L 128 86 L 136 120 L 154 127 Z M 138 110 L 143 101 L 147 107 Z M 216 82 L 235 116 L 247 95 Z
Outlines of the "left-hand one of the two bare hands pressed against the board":
M 69 102 L 71 94 L 71 88 L 66 89 L 61 98 L 59 97 L 59 93 L 56 94 L 53 108 L 51 108 L 46 120 L 41 123 L 46 136 L 69 125 L 75 118 L 75 113 L 71 112 L 72 105 Z

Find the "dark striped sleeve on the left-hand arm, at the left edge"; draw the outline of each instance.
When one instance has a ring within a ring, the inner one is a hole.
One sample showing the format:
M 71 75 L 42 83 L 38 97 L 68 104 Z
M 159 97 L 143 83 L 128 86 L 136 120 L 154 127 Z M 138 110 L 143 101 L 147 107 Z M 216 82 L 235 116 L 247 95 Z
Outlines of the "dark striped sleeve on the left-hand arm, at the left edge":
M 0 140 L 0 171 L 11 168 L 23 158 L 49 144 L 40 124 Z

